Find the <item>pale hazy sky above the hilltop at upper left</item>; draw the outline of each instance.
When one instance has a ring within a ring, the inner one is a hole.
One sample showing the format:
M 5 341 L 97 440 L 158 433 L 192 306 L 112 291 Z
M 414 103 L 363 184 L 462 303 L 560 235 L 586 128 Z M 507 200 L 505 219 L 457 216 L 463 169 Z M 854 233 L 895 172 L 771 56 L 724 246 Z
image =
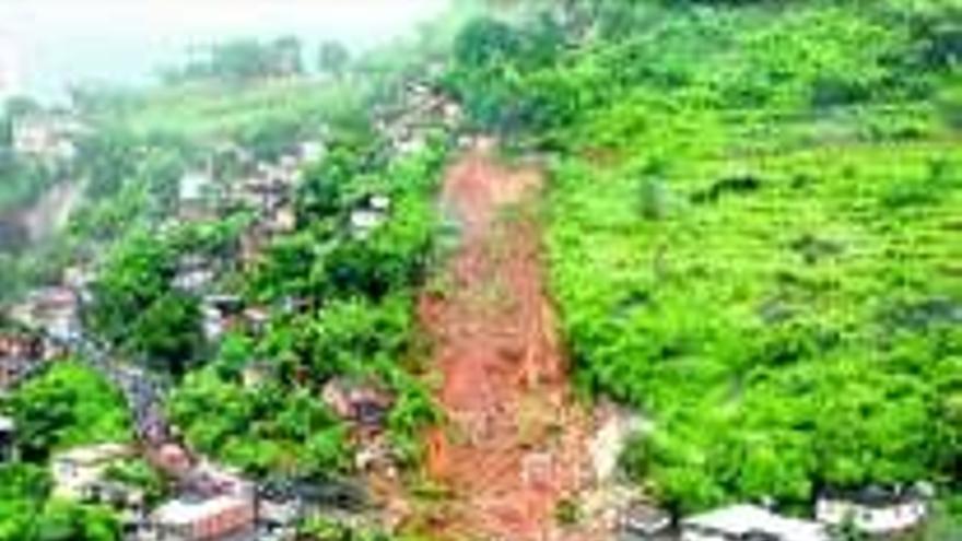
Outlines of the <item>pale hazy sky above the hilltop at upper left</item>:
M 294 34 L 367 47 L 447 0 L 0 0 L 0 86 L 56 95 L 77 80 L 141 83 L 191 45 Z M 3 90 L 0 89 L 0 94 Z

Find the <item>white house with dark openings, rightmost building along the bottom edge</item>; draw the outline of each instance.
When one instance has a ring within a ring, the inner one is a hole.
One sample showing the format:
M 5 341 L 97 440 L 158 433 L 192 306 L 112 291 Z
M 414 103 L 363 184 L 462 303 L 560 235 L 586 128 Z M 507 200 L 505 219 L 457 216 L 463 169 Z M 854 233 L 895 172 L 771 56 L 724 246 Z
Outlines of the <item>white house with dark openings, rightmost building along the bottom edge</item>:
M 902 533 L 925 524 L 932 492 L 920 483 L 908 489 L 870 486 L 858 492 L 825 493 L 816 504 L 816 517 L 831 527 L 850 521 L 871 536 Z

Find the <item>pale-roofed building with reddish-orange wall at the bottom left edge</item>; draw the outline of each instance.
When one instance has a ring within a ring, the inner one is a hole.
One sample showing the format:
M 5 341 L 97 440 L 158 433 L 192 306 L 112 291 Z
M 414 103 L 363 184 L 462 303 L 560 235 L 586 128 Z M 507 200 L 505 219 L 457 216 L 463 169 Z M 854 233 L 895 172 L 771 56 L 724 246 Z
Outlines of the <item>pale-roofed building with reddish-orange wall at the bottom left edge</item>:
M 152 521 L 160 541 L 218 541 L 251 534 L 256 517 L 251 499 L 222 495 L 174 499 Z

